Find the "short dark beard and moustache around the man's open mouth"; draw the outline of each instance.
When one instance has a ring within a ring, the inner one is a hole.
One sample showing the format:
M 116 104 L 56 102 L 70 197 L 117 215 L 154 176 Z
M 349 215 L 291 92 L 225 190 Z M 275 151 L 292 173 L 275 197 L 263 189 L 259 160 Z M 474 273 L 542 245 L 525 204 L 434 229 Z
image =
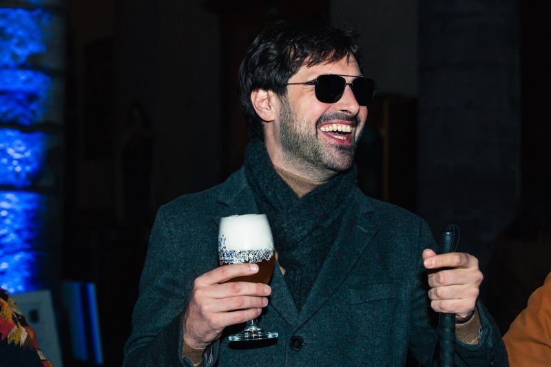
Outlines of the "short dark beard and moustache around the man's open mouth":
M 329 120 L 346 120 L 353 123 L 355 129 L 360 126 L 359 116 L 350 116 L 341 112 L 323 114 L 311 126 L 307 120 L 299 120 L 295 116 L 287 98 L 281 98 L 280 142 L 283 158 L 287 162 L 300 165 L 309 174 L 318 177 L 329 177 L 349 170 L 355 157 L 357 139 L 361 132 L 353 132 L 351 145 L 331 144 L 329 140 L 320 137 L 323 134 L 318 126 Z

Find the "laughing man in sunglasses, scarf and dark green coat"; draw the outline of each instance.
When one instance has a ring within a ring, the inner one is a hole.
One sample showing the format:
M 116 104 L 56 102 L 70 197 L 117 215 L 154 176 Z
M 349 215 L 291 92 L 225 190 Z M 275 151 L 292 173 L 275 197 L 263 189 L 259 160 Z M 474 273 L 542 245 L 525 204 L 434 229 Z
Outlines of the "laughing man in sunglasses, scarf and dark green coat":
M 477 259 L 436 255 L 423 220 L 355 184 L 375 89 L 363 74 L 350 30 L 279 21 L 256 38 L 239 74 L 245 163 L 160 208 L 126 366 L 399 366 L 408 348 L 425 364 L 435 311 L 457 314 L 457 365 L 506 364 L 477 303 Z M 231 282 L 254 264 L 218 267 L 218 222 L 245 213 L 269 218 L 279 265 L 270 286 Z M 229 343 L 261 314 L 277 339 Z

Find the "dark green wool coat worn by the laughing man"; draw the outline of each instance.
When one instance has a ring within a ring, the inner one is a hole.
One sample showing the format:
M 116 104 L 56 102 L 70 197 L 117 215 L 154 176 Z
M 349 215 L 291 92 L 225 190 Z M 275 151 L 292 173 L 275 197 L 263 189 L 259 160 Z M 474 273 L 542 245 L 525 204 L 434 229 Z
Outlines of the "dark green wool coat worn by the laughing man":
M 437 245 L 427 224 L 355 187 L 351 208 L 298 313 L 278 266 L 260 325 L 264 344 L 229 344 L 227 328 L 203 366 L 402 366 L 408 348 L 424 364 L 435 334 L 422 251 Z M 321 205 L 322 203 L 320 203 Z M 134 309 L 125 366 L 191 366 L 180 358 L 193 282 L 218 266 L 218 222 L 256 213 L 243 169 L 222 185 L 181 196 L 158 211 Z M 277 244 L 276 244 L 277 247 Z M 457 366 L 505 366 L 501 336 L 484 306 L 481 343 L 457 341 Z

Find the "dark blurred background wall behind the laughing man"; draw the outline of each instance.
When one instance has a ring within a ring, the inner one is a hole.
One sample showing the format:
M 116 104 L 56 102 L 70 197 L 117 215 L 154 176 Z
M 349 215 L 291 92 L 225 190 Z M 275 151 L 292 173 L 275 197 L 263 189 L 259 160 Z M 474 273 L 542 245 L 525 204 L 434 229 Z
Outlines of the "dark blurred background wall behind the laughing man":
M 360 33 L 377 81 L 360 187 L 419 213 L 435 234 L 459 225 L 459 249 L 488 281 L 528 183 L 550 178 L 545 2 L 67 0 L 64 14 L 55 258 L 62 280 L 97 286 L 105 366 L 122 361 L 156 209 L 240 166 L 237 67 L 269 21 L 320 17 Z

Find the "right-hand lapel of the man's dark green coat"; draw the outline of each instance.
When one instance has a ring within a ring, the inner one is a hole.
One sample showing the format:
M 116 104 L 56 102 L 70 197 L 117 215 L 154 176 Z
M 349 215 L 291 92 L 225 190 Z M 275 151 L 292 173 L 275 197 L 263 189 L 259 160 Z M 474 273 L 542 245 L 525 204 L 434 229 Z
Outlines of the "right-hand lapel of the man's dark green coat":
M 355 193 L 351 207 L 355 209 L 345 215 L 337 240 L 300 311 L 298 326 L 308 321 L 337 291 L 379 230 L 380 224 L 375 220 L 373 209 L 362 193 Z

